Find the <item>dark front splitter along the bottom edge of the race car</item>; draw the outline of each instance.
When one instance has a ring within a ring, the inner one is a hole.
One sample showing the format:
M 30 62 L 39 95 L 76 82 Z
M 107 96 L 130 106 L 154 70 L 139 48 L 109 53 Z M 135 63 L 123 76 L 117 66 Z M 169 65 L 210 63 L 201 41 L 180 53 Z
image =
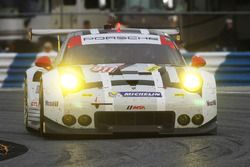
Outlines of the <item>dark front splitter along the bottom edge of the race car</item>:
M 217 130 L 217 117 L 198 128 L 174 128 L 162 126 L 114 126 L 106 129 L 74 129 L 62 126 L 44 117 L 44 132 L 49 135 L 114 135 L 114 134 L 146 134 L 157 135 L 202 135 L 214 133 Z

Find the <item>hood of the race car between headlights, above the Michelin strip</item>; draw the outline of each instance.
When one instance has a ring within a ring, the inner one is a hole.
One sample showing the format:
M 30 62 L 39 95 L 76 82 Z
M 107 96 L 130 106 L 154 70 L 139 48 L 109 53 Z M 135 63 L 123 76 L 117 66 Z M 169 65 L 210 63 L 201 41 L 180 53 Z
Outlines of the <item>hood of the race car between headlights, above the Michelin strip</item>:
M 102 87 L 152 86 L 179 87 L 183 67 L 156 64 L 96 64 L 79 66 L 86 83 L 101 82 Z

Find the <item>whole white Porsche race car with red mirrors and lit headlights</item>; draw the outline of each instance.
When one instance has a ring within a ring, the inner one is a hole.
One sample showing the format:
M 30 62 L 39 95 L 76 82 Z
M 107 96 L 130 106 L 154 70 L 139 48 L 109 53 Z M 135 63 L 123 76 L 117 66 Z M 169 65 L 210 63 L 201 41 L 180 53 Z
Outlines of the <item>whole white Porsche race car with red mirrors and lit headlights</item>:
M 41 134 L 208 134 L 217 132 L 216 83 L 177 30 L 31 30 L 67 34 L 51 63 L 26 71 L 24 123 Z

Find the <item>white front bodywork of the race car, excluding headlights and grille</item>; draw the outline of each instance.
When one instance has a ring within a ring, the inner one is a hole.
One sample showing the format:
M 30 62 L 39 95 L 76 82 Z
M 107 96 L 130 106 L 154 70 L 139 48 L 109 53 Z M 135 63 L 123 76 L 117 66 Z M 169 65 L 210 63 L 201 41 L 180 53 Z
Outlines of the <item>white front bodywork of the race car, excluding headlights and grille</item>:
M 191 118 L 195 114 L 204 116 L 204 123 L 213 119 L 217 115 L 217 99 L 216 99 L 216 84 L 214 76 L 208 72 L 199 70 L 203 78 L 202 96 L 198 93 L 190 93 L 182 88 L 163 88 L 161 76 L 158 71 L 152 72 L 152 75 L 138 74 L 123 74 L 109 75 L 103 72 L 91 71 L 93 65 L 81 66 L 81 70 L 85 76 L 85 81 L 103 83 L 103 88 L 91 88 L 81 90 L 74 94 L 62 94 L 62 89 L 59 86 L 60 76 L 58 70 L 43 75 L 43 91 L 44 102 L 58 102 L 58 106 L 48 106 L 44 104 L 45 117 L 65 126 L 62 122 L 62 117 L 65 114 L 74 115 L 78 118 L 80 115 L 89 115 L 94 120 L 94 113 L 97 111 L 124 111 L 128 110 L 128 106 L 144 106 L 141 110 L 136 111 L 174 111 L 176 114 L 175 128 L 197 128 L 199 126 L 190 122 L 187 126 L 181 126 L 177 123 L 177 118 L 181 114 L 187 114 Z M 102 66 L 102 65 L 101 65 Z M 111 65 L 112 66 L 112 65 Z M 128 66 L 121 71 L 141 71 L 147 72 L 146 69 L 153 64 L 134 64 Z M 164 68 L 164 67 L 162 67 Z M 179 76 L 174 67 L 166 66 L 166 70 L 170 73 L 175 73 L 173 81 L 180 81 Z M 171 70 L 169 70 L 171 69 Z M 190 69 L 190 67 L 187 67 Z M 148 80 L 153 81 L 155 85 L 130 85 L 112 86 L 112 80 Z M 117 95 L 111 97 L 110 92 L 116 92 Z M 124 97 L 119 92 L 160 92 L 161 97 Z M 88 95 L 88 96 L 85 96 Z M 212 106 L 208 106 L 207 102 L 216 101 Z M 112 105 L 100 105 L 96 108 L 91 103 L 111 103 Z M 67 127 L 67 126 L 66 126 Z M 76 129 L 91 129 L 94 128 L 94 121 L 89 126 L 81 126 L 78 123 L 70 128 Z

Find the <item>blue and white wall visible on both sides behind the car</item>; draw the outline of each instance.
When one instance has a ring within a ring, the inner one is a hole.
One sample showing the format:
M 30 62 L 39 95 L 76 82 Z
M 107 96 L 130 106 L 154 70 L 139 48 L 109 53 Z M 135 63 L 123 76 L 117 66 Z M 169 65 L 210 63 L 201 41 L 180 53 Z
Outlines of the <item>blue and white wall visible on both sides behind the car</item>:
M 215 74 L 218 85 L 250 85 L 250 52 L 187 52 L 190 63 L 193 55 L 206 59 L 207 70 Z M 21 88 L 25 70 L 34 64 L 36 53 L 0 53 L 0 88 Z

